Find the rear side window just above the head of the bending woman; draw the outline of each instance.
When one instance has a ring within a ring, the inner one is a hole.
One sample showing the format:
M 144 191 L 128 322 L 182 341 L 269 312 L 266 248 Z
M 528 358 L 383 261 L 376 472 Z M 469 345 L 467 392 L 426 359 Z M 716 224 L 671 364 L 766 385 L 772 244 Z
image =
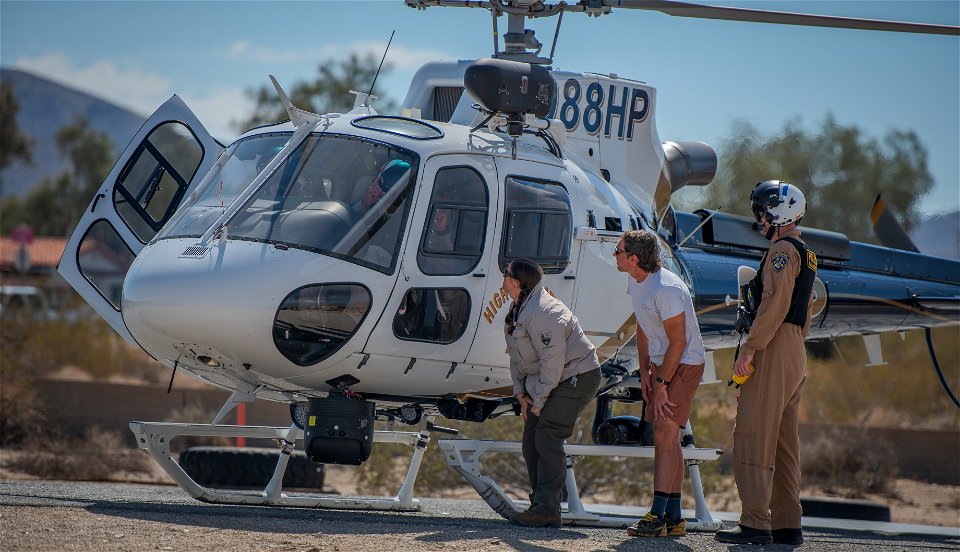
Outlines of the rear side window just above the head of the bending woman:
M 557 274 L 570 264 L 573 215 L 567 190 L 556 182 L 508 176 L 506 218 L 500 249 L 500 270 L 510 261 L 526 257 L 547 274 Z

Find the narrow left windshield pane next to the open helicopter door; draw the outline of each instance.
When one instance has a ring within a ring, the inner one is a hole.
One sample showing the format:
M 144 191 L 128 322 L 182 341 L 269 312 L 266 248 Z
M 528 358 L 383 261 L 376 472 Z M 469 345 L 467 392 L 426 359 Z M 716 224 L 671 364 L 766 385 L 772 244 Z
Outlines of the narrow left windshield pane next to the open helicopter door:
M 234 142 L 204 177 L 200 190 L 156 239 L 200 237 L 253 182 L 290 140 L 290 132 L 260 134 Z

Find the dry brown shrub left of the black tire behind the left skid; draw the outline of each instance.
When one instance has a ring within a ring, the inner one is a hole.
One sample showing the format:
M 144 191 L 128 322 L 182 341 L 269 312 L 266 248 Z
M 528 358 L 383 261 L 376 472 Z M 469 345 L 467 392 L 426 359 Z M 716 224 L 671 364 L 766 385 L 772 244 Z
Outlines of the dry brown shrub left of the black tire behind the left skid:
M 82 438 L 49 434 L 32 438 L 7 467 L 44 479 L 109 481 L 123 480 L 130 472 L 149 472 L 149 461 L 120 434 L 90 428 Z

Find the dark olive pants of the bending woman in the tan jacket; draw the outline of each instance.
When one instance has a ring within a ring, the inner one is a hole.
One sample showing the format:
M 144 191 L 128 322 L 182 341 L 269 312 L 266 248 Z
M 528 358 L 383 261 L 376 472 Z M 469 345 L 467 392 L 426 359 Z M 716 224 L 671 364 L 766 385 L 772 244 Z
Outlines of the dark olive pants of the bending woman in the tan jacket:
M 593 400 L 600 387 L 600 369 L 561 381 L 534 416 L 527 411 L 523 426 L 523 459 L 530 476 L 530 509 L 549 515 L 560 514 L 560 492 L 567 474 L 563 441 L 583 407 Z

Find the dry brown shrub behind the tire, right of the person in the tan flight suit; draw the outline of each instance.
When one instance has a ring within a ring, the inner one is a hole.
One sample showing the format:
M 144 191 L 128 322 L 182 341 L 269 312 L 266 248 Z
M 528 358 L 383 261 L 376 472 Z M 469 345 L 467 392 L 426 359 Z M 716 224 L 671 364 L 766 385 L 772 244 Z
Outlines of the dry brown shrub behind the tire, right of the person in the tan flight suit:
M 888 494 L 897 477 L 893 447 L 862 433 L 829 431 L 805 447 L 801 463 L 804 483 L 848 498 Z

